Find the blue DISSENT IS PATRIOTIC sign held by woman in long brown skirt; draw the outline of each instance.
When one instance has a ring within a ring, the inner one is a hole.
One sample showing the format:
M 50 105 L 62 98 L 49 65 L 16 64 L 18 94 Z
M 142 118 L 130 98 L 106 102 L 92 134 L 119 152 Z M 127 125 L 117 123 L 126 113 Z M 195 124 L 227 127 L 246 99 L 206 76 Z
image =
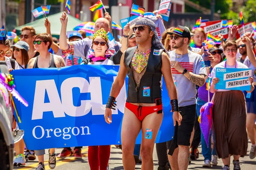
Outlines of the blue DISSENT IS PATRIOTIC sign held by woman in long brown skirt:
M 216 77 L 220 81 L 215 89 L 250 91 L 249 77 L 252 69 L 248 68 L 216 68 Z

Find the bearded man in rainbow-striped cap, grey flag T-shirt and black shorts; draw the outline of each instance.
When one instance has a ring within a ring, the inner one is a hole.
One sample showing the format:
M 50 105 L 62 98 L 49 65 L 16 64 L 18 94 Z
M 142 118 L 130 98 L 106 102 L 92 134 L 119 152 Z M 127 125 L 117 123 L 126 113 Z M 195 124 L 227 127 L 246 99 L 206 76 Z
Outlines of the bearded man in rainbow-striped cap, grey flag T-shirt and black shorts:
M 190 137 L 194 127 L 196 114 L 196 87 L 205 83 L 207 72 L 204 60 L 199 55 L 187 49 L 191 38 L 190 32 L 184 26 L 177 26 L 171 35 L 172 48 L 170 60 L 173 79 L 177 82 L 179 111 L 182 115 L 180 126 L 175 126 L 172 141 L 167 142 L 168 159 L 172 170 L 186 170 L 189 163 Z M 212 60 L 212 57 L 209 57 Z

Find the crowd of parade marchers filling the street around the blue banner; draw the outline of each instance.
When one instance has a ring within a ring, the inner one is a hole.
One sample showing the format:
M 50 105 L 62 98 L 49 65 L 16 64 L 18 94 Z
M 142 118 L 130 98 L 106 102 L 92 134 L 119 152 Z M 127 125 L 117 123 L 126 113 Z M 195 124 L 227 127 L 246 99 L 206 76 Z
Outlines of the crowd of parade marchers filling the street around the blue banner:
M 161 18 L 156 11 L 153 13 L 157 19 Z M 108 12 L 96 20 L 95 33 L 89 37 L 83 30 L 67 37 L 66 12 L 58 22 L 61 24 L 59 40 L 52 37 L 51 23 L 47 19 L 44 23 L 46 33 L 36 34 L 33 27 L 25 26 L 16 44 L 12 45 L 8 39 L 0 40 L 0 60 L 6 62 L 10 73 L 17 69 L 70 65 L 120 65 L 104 118 L 111 124 L 111 109 L 118 105 L 116 97 L 128 76 L 122 145 L 117 145 L 122 148 L 125 170 L 134 170 L 138 163 L 142 163 L 143 170 L 153 170 L 156 132 L 163 120 L 162 79 L 171 99 L 175 133 L 171 141 L 156 144 L 158 170 L 186 170 L 191 161 L 198 159 L 200 144 L 205 168 L 216 166 L 218 159 L 222 159 L 223 170 L 230 170 L 231 160 L 234 170 L 242 169 L 239 159 L 247 156 L 249 141 L 252 145 L 249 157 L 256 157 L 256 39 L 250 32 L 236 39 L 238 26 L 233 25 L 228 29 L 227 39 L 219 34 L 220 44 L 207 45 L 210 65 L 206 67 L 203 43 L 207 34 L 200 27 L 191 31 L 186 26 L 166 28 L 159 39 L 155 23 L 147 17 L 138 17 L 134 25 L 127 23 L 123 28 L 122 40 L 116 40 L 116 45 L 110 47 L 107 33 L 112 32 L 112 21 Z M 193 46 L 190 45 L 192 41 Z M 251 68 L 252 75 L 248 78 L 250 91 L 217 90 L 215 85 L 219 77 L 216 77 L 216 68 Z M 144 94 L 142 87 L 148 87 L 150 97 Z M 201 108 L 210 101 L 213 102 L 212 128 L 206 140 L 198 119 Z M 16 126 L 14 121 L 13 128 Z M 148 129 L 153 131 L 150 139 L 145 138 Z M 140 130 L 143 136 L 141 144 L 135 144 Z M 37 156 L 36 170 L 45 170 L 45 150 L 24 150 L 25 147 L 23 139 L 15 144 L 14 166 L 24 166 L 26 159 L 33 161 Z M 82 159 L 83 146 L 73 147 L 63 148 L 58 155 L 55 148 L 49 148 L 49 168 L 56 167 L 56 158 L 74 156 Z M 110 154 L 110 145 L 89 146 L 90 169 L 109 170 Z

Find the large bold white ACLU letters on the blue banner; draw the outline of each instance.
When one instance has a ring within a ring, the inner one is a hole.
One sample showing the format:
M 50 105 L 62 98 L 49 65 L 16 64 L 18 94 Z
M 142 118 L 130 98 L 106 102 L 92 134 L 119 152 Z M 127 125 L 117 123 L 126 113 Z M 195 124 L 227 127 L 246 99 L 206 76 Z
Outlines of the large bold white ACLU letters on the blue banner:
M 116 79 L 116 77 L 113 77 Z M 100 77 L 89 77 L 90 83 L 83 77 L 71 77 L 65 79 L 61 84 L 61 98 L 53 79 L 36 81 L 35 96 L 32 111 L 32 120 L 43 119 L 43 113 L 52 111 L 53 116 L 65 117 L 65 114 L 73 117 L 84 116 L 92 110 L 93 115 L 104 115 L 106 105 L 102 104 L 102 89 Z M 90 99 L 81 100 L 80 106 L 73 105 L 73 88 L 79 88 L 80 93 L 90 93 Z M 108 93 L 110 89 L 107 90 Z M 47 93 L 49 102 L 44 103 L 45 93 Z M 119 95 L 116 110 L 112 114 L 118 114 L 118 111 L 124 113 L 126 100 L 126 88 L 123 85 Z

